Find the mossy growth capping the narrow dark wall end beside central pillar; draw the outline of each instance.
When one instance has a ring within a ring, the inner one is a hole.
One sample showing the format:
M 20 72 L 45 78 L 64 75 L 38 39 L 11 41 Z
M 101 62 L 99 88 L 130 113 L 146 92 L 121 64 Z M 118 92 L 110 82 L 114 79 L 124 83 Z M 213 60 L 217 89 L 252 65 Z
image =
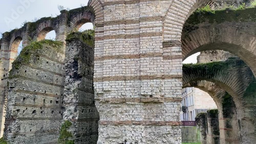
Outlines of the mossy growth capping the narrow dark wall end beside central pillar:
M 83 32 L 73 32 L 67 36 L 66 40 L 75 40 L 80 39 L 84 43 L 88 44 L 91 47 L 94 47 L 94 30 L 86 30 Z

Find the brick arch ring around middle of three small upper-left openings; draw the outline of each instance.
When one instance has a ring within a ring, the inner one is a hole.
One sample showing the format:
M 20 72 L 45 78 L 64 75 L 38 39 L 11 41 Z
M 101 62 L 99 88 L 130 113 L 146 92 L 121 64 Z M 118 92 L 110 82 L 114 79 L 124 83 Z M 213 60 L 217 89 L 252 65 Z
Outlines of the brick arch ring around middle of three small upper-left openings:
M 37 41 L 45 39 L 47 33 L 50 31 L 55 31 L 56 33 L 56 40 L 58 39 L 58 33 L 59 33 L 59 28 L 58 25 L 54 24 L 52 20 L 46 20 L 37 26 L 35 37 Z

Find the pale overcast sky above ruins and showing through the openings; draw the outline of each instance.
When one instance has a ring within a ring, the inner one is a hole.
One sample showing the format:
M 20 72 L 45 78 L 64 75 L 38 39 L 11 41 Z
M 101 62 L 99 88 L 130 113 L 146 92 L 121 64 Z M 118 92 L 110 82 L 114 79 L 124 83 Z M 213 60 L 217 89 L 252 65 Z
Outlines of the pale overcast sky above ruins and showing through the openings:
M 0 1 L 0 33 L 4 33 L 15 28 L 21 28 L 24 21 L 32 21 L 41 17 L 56 17 L 60 14 L 58 5 L 69 9 L 86 6 L 88 0 L 11 0 Z M 91 29 L 92 26 L 84 25 L 81 29 Z M 0 35 L 0 38 L 2 35 Z M 54 32 L 48 38 L 54 37 Z M 198 54 L 190 56 L 184 62 L 196 63 Z

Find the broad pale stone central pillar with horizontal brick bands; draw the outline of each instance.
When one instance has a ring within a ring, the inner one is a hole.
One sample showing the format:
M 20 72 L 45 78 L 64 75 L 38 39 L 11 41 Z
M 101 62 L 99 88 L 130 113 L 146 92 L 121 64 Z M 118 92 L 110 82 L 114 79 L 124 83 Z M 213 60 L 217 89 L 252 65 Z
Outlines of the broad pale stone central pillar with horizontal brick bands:
M 94 70 L 98 143 L 181 142 L 181 43 L 163 39 L 172 2 L 101 1 Z

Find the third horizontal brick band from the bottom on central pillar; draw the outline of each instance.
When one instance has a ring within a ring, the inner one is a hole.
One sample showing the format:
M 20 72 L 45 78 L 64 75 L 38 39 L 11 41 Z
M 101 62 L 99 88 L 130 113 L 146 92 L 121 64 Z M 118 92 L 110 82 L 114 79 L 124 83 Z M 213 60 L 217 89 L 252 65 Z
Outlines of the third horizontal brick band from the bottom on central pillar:
M 126 81 L 126 80 L 161 80 L 161 79 L 174 79 L 182 78 L 182 75 L 164 75 L 164 76 L 116 76 L 116 77 L 103 77 L 103 78 L 94 78 L 94 82 L 102 81 Z

